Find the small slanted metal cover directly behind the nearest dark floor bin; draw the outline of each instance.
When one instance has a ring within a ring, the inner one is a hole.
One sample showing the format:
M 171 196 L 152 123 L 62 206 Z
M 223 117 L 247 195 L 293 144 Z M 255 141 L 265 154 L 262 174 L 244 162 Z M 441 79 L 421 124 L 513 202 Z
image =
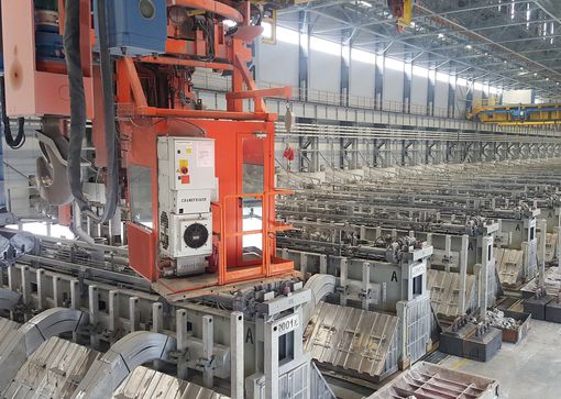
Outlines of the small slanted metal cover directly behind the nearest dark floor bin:
M 473 309 L 475 301 L 475 276 L 465 277 L 465 310 Z M 430 303 L 438 318 L 455 319 L 459 313 L 460 274 L 444 270 L 427 270 L 427 288 Z

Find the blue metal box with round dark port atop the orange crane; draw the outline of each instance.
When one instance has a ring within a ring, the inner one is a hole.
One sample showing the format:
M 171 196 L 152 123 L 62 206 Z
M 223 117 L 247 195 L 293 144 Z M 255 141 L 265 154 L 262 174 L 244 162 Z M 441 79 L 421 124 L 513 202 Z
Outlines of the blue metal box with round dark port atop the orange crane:
M 97 3 L 95 1 L 96 13 Z M 106 1 L 106 7 L 109 49 L 112 54 L 145 56 L 165 53 L 166 0 L 111 0 Z M 96 34 L 99 37 L 97 15 L 95 21 Z

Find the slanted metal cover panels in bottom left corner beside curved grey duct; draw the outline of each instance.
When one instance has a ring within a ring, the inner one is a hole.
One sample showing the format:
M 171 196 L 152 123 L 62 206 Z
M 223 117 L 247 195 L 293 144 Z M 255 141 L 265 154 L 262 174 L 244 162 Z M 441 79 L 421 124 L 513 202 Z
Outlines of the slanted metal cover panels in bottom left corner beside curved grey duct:
M 52 337 L 28 358 L 2 398 L 70 398 L 97 357 L 94 350 Z

